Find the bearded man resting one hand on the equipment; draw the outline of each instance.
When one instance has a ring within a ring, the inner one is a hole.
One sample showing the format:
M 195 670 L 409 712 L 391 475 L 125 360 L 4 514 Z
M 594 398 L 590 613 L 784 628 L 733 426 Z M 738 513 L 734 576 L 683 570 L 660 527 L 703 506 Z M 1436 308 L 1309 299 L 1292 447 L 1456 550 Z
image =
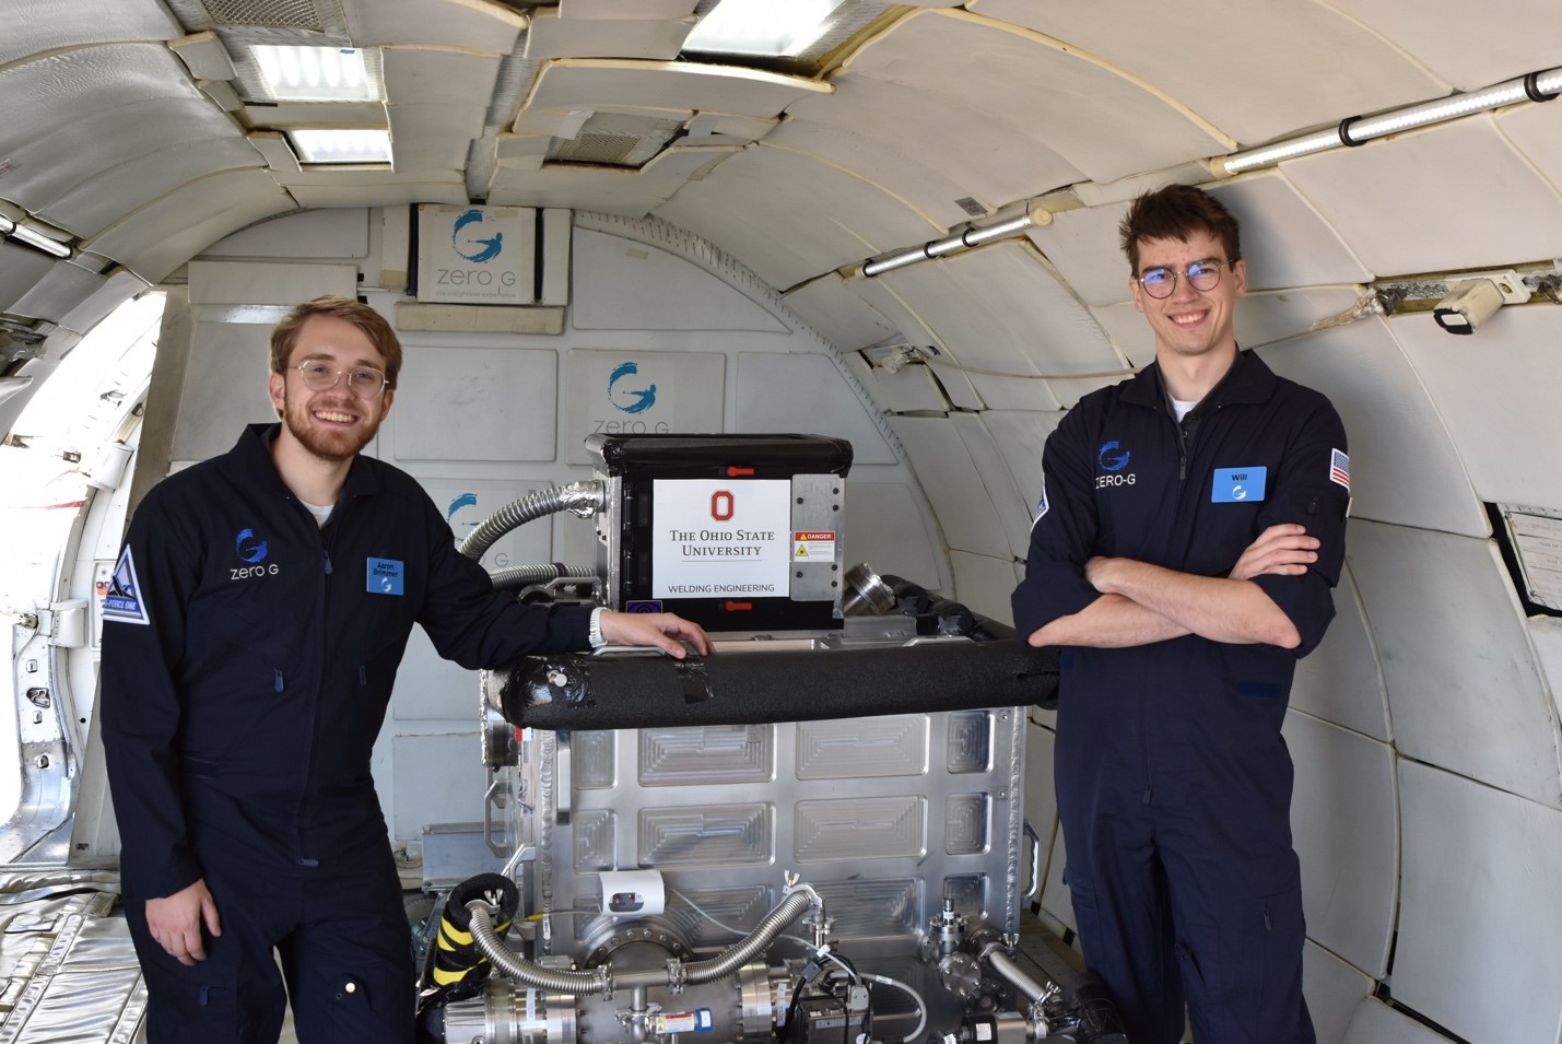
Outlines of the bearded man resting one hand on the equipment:
M 401 367 L 372 308 L 306 302 L 270 347 L 283 422 L 147 494 L 105 603 L 103 745 L 148 1041 L 276 1041 L 291 999 L 300 1041 L 408 1042 L 411 939 L 369 763 L 412 624 L 469 669 L 709 642 L 672 614 L 495 592 L 422 488 L 359 456 Z

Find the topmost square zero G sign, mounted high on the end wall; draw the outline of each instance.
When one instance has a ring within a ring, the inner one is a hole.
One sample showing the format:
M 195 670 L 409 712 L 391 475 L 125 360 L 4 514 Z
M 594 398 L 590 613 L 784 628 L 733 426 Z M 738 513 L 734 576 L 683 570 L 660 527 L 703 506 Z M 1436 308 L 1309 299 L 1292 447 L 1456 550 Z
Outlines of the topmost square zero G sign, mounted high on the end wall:
M 472 305 L 536 300 L 537 211 L 528 206 L 417 208 L 417 299 Z

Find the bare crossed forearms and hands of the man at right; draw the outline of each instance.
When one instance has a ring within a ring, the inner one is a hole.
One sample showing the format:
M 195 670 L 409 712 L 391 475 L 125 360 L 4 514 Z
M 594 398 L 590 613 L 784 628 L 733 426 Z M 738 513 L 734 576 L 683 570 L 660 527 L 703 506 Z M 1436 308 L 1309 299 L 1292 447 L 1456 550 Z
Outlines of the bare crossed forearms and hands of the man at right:
M 1253 577 L 1295 577 L 1317 561 L 1318 539 L 1301 525 L 1264 530 L 1226 577 L 1151 566 L 1132 558 L 1090 558 L 1086 580 L 1101 597 L 1031 633 L 1031 645 L 1126 649 L 1200 635 L 1217 642 L 1295 649 L 1301 635 Z

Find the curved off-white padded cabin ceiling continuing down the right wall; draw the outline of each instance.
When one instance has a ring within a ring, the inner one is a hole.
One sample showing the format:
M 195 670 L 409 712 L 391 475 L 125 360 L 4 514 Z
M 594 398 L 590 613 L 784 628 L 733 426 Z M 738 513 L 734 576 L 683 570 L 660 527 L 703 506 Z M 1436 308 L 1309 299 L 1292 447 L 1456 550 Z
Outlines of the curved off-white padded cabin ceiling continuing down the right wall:
M 278 216 L 569 208 L 586 255 L 676 242 L 833 345 L 883 414 L 856 420 L 872 452 L 915 469 L 958 595 L 1003 616 L 1043 439 L 1153 358 L 1126 200 L 1206 184 L 1243 222 L 1239 338 L 1331 395 L 1356 458 L 1339 616 L 1286 727 L 1320 1039 L 1557 1041 L 1562 624 L 1515 580 L 1503 520 L 1562 516 L 1556 5 L 845 0 L 773 59 L 703 50 L 715 6 L 12 0 L 0 374 L 47 374 L 37 334 L 69 347 Z M 358 50 L 373 94 L 275 98 L 261 44 Z M 1354 117 L 1506 83 L 1495 108 L 1343 144 Z M 311 163 L 292 134 L 322 128 L 387 134 L 390 159 Z M 1226 177 L 1301 138 L 1336 144 Z M 1484 275 L 1510 303 L 1448 336 L 1432 305 Z M 751 386 L 836 378 L 789 358 L 742 366 Z M 890 524 L 918 509 L 862 495 Z M 1061 858 L 1043 905 L 1067 924 Z

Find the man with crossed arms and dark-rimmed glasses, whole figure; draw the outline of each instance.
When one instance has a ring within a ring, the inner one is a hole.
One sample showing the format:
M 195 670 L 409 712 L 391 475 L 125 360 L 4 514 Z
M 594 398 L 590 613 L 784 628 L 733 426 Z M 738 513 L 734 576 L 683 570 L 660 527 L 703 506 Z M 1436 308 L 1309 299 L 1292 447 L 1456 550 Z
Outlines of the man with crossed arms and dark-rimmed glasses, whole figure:
M 1068 411 L 1014 619 L 1062 647 L 1056 785 L 1086 961 L 1134 1044 L 1307 1044 L 1281 739 L 1334 616 L 1350 458 L 1328 399 L 1237 349 L 1237 222 L 1175 184 L 1122 223 L 1156 361 Z

